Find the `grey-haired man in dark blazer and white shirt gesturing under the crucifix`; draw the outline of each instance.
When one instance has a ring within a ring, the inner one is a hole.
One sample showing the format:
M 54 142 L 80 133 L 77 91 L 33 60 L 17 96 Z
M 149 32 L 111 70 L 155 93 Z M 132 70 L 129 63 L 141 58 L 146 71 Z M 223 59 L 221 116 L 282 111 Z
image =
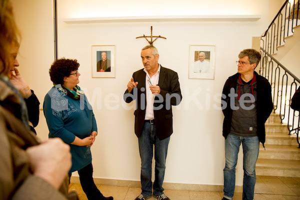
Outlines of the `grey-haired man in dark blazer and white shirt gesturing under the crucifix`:
M 147 199 L 152 195 L 151 162 L 155 158 L 153 196 L 169 199 L 163 193 L 167 146 L 172 129 L 171 105 L 181 101 L 178 75 L 175 71 L 158 64 L 158 51 L 148 45 L 141 50 L 143 69 L 135 71 L 124 93 L 125 102 L 136 100 L 134 132 L 138 137 L 141 158 L 141 194 L 135 199 Z

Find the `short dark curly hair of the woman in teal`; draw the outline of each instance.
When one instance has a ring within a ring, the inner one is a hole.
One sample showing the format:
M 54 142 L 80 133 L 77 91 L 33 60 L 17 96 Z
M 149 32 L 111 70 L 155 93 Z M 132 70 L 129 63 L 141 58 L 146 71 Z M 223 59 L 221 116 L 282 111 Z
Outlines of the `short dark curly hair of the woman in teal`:
M 63 78 L 68 77 L 71 71 L 77 70 L 79 63 L 76 59 L 56 59 L 49 69 L 50 79 L 54 84 L 63 84 Z

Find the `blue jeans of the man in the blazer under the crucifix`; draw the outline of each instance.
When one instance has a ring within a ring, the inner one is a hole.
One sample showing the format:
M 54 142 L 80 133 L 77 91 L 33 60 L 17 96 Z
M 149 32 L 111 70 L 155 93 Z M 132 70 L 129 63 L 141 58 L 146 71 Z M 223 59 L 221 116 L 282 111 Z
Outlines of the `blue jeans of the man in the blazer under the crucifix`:
M 141 135 L 138 137 L 139 155 L 141 160 L 140 182 L 141 194 L 149 197 L 152 194 L 152 157 L 154 144 L 155 180 L 153 183 L 153 194 L 163 194 L 162 182 L 164 178 L 165 159 L 170 137 L 159 140 L 155 134 L 155 124 L 144 122 Z

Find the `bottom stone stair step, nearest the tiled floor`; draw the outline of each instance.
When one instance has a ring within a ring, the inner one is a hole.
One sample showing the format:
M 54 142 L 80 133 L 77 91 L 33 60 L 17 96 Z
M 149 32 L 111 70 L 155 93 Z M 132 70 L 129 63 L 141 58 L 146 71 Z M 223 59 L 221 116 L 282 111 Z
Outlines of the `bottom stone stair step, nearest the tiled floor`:
M 258 158 L 256 175 L 300 177 L 300 160 Z

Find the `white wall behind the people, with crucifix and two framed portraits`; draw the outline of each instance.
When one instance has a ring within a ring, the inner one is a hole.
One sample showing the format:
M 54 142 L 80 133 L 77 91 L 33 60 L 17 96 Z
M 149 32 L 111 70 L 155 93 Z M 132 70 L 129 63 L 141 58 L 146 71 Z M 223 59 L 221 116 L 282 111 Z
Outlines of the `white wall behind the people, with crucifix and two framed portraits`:
M 14 0 L 23 40 L 20 71 L 40 99 L 51 87 L 48 68 L 53 61 L 52 0 Z M 166 163 L 165 182 L 223 184 L 224 138 L 220 97 L 226 78 L 236 72 L 237 54 L 251 47 L 268 25 L 268 0 L 58 0 L 58 57 L 80 63 L 80 87 L 93 106 L 98 136 L 91 147 L 94 177 L 139 180 L 140 158 L 134 134 L 132 104 L 122 94 L 132 73 L 142 68 L 140 49 L 148 43 L 136 36 L 153 35 L 159 63 L 178 72 L 182 102 L 173 107 L 173 134 Z M 125 22 L 67 24 L 63 18 L 132 15 L 259 14 L 253 22 Z M 189 79 L 189 45 L 215 45 L 215 77 Z M 115 78 L 91 78 L 91 45 L 116 46 Z M 115 100 L 108 102 L 107 99 Z M 114 107 L 114 108 L 112 108 Z M 40 112 L 37 127 L 42 139 L 47 126 Z M 242 154 L 237 185 L 242 184 Z

